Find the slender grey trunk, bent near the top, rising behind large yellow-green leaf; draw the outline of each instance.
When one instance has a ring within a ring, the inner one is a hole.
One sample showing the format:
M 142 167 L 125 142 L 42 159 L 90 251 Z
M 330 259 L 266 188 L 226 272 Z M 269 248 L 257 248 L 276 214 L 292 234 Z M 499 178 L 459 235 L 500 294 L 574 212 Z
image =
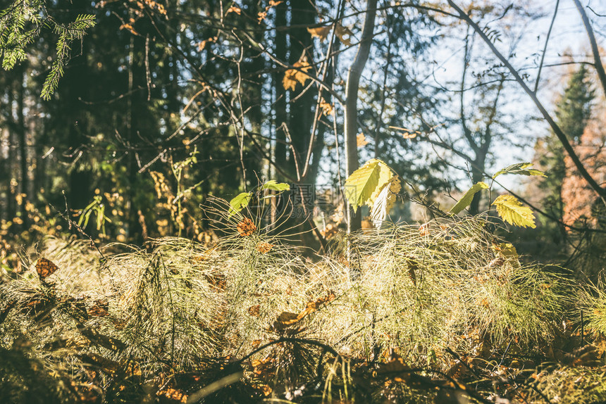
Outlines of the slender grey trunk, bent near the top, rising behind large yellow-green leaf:
M 347 176 L 359 168 L 358 149 L 356 141 L 358 120 L 358 89 L 360 77 L 366 61 L 368 61 L 373 31 L 375 27 L 377 0 L 369 0 L 366 8 L 366 18 L 358 53 L 349 72 L 347 72 L 347 87 L 345 89 L 345 170 Z M 347 232 L 361 228 L 361 214 L 355 215 L 352 207 L 347 204 Z

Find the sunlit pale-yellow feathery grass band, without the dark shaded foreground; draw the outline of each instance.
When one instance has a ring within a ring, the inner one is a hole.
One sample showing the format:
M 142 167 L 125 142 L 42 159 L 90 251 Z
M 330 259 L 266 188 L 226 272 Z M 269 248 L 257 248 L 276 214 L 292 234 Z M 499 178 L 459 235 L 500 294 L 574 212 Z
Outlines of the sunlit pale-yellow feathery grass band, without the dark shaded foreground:
M 566 277 L 521 265 L 480 218 L 354 234 L 348 267 L 340 248 L 305 260 L 285 243 L 287 229 L 264 227 L 247 212 L 253 220 L 243 231 L 244 215 L 229 216 L 224 202 L 213 203 L 207 213 L 224 236 L 211 248 L 166 238 L 147 249 L 112 246 L 123 252 L 100 259 L 80 242 L 46 239 L 40 256 L 58 265 L 56 274 L 40 282 L 32 259 L 30 273 L 0 285 L 1 301 L 16 302 L 1 308 L 1 347 L 30 341 L 32 358 L 81 379 L 78 372 L 95 358 L 135 361 L 137 377 L 149 383 L 167 369 L 208 370 L 284 337 L 319 341 L 353 360 L 385 360 L 381 353 L 391 349 L 412 367 L 447 371 L 447 348 L 489 357 L 513 340 L 521 351 L 545 346 L 569 304 Z M 352 271 L 359 276 L 352 279 Z M 32 308 L 35 299 L 49 304 Z M 314 301 L 321 303 L 309 309 Z M 301 315 L 284 324 L 281 313 Z M 249 377 L 272 384 L 274 393 L 284 384 L 291 396 L 297 383 L 317 376 L 326 355 L 317 346 L 283 343 L 247 360 L 262 362 L 272 350 L 273 379 Z M 343 360 L 332 361 L 345 369 Z M 341 374 L 333 379 L 342 394 L 351 370 L 330 368 L 319 372 Z M 103 374 L 109 383 L 111 372 Z M 325 389 L 319 396 L 330 396 L 328 379 L 316 381 Z

